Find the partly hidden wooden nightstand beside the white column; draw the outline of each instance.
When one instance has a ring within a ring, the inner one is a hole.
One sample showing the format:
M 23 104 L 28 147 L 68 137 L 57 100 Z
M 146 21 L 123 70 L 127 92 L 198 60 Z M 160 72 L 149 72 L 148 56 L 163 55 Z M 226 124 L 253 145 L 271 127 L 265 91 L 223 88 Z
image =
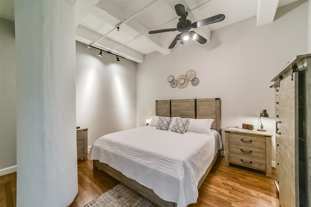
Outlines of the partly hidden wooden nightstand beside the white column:
M 77 128 L 77 158 L 87 159 L 87 129 Z

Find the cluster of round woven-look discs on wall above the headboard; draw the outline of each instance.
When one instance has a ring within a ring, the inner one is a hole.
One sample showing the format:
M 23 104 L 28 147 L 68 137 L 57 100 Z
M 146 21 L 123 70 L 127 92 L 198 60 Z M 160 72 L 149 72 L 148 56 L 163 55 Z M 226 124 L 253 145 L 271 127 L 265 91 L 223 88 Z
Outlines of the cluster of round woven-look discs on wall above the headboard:
M 189 82 L 193 86 L 197 86 L 200 80 L 196 77 L 196 72 L 194 70 L 188 70 L 186 75 L 180 75 L 177 79 L 174 79 L 173 75 L 167 77 L 167 81 L 170 82 L 172 88 L 186 88 Z

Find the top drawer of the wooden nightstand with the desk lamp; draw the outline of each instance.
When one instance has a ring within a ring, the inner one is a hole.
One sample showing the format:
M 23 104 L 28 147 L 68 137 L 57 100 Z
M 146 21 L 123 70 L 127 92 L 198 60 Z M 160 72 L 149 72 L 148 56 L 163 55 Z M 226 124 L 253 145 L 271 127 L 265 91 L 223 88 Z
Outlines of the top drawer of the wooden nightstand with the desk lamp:
M 262 148 L 266 147 L 266 139 L 265 138 L 253 137 L 253 136 L 244 136 L 244 135 L 240 135 L 240 134 L 230 133 L 229 142 L 248 145 L 248 146 L 257 146 L 257 147 L 262 147 Z

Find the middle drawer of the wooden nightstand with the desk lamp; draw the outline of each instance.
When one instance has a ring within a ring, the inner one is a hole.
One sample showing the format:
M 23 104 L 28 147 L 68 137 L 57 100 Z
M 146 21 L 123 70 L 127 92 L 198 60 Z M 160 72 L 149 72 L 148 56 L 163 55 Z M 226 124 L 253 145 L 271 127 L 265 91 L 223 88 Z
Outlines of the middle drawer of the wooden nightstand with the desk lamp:
M 229 146 L 229 152 L 266 159 L 266 150 L 261 149 L 261 148 L 256 148 L 256 147 L 250 147 L 250 146 L 244 146 L 244 145 L 232 143 Z

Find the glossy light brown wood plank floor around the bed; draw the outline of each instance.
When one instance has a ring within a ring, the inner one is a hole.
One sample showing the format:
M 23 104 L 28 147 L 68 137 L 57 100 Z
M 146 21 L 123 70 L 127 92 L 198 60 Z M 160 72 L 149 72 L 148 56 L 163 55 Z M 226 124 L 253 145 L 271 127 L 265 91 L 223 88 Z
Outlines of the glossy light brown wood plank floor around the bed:
M 83 207 L 119 181 L 93 171 L 91 160 L 78 160 L 79 195 L 72 207 Z M 225 166 L 220 157 L 190 207 L 279 207 L 273 178 L 238 166 Z M 0 177 L 0 207 L 16 207 L 16 173 Z

